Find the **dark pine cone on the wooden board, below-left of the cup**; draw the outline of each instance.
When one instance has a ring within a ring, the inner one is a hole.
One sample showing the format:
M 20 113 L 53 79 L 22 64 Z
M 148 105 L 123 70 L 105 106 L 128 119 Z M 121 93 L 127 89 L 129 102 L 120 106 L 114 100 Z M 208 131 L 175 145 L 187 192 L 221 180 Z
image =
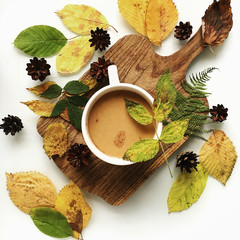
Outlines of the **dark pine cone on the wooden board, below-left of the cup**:
M 67 160 L 74 167 L 87 166 L 90 160 L 91 151 L 87 145 L 75 143 L 67 153 Z

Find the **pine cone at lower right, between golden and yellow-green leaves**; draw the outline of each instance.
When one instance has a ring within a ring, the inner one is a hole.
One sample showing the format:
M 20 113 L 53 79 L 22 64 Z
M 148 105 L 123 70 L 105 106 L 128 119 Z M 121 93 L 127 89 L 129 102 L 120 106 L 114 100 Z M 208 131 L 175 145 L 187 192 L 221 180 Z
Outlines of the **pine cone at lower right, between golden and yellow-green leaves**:
M 180 167 L 181 171 L 185 169 L 189 173 L 191 173 L 191 168 L 197 171 L 197 164 L 199 164 L 197 157 L 198 155 L 193 151 L 181 152 L 177 155 L 176 167 Z

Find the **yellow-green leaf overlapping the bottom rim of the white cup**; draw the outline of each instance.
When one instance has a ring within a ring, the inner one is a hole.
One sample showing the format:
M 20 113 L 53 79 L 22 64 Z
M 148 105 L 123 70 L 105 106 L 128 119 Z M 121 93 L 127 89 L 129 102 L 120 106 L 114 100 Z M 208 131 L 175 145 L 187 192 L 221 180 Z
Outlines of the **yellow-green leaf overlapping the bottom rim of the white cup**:
M 156 139 L 144 139 L 134 143 L 124 154 L 123 159 L 131 162 L 144 162 L 153 159 L 159 152 Z

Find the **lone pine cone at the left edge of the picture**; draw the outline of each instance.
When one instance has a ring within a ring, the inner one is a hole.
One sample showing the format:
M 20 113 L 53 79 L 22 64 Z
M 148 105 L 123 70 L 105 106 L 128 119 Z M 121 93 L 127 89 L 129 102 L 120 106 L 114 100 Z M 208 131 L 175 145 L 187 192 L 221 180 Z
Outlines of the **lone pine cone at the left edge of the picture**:
M 4 122 L 0 125 L 0 129 L 3 129 L 6 135 L 11 133 L 11 135 L 15 135 L 17 132 L 21 131 L 23 128 L 22 121 L 17 116 L 12 116 L 8 114 L 8 117 L 2 119 Z

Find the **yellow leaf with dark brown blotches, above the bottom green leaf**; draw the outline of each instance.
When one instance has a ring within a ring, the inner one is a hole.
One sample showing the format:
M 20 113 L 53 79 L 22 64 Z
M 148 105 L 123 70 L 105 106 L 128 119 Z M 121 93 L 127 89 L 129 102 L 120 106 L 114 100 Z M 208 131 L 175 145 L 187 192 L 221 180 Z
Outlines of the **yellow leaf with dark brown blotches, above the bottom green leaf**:
M 77 232 L 87 226 L 92 213 L 81 190 L 72 181 L 58 194 L 55 209 L 67 218 L 71 226 L 75 226 L 74 230 Z M 78 220 L 80 213 L 82 214 L 82 223 Z

